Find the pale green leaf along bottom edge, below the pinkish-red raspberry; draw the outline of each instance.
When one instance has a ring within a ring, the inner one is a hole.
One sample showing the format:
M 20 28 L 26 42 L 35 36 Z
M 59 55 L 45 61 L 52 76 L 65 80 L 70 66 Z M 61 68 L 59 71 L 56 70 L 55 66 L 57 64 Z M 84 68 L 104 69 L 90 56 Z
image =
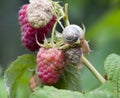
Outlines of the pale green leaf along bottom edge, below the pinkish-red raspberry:
M 37 88 L 30 98 L 82 98 L 82 94 L 69 90 L 58 90 L 52 86 L 44 86 L 44 88 Z

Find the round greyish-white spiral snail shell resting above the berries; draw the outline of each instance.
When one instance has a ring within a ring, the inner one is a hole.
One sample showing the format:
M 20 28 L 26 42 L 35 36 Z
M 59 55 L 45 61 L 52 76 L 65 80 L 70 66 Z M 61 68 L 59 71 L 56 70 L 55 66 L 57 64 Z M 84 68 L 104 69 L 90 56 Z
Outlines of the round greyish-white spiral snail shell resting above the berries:
M 77 25 L 69 25 L 63 30 L 62 37 L 66 43 L 72 44 L 78 39 L 84 38 L 84 31 Z

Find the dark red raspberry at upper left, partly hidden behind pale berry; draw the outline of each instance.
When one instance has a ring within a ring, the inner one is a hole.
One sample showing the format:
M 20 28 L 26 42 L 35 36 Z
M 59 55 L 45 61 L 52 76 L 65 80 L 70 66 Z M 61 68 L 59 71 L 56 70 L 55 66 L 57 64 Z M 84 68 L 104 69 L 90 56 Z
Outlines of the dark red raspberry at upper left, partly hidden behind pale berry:
M 43 43 L 44 36 L 47 36 L 53 27 L 56 17 L 53 15 L 52 19 L 42 28 L 33 28 L 28 22 L 27 17 L 27 7 L 28 4 L 22 6 L 18 12 L 18 20 L 21 25 L 22 32 L 22 43 L 31 51 L 36 51 L 39 49 L 39 45 L 36 43 L 35 34 L 37 34 L 37 39 L 39 43 Z

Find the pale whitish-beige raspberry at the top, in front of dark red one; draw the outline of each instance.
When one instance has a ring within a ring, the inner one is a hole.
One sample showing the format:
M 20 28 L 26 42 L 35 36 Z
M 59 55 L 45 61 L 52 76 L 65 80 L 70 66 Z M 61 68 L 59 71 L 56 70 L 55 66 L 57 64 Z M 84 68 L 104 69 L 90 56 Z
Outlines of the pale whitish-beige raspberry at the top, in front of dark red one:
M 27 8 L 28 21 L 34 28 L 44 27 L 53 17 L 50 0 L 33 0 Z

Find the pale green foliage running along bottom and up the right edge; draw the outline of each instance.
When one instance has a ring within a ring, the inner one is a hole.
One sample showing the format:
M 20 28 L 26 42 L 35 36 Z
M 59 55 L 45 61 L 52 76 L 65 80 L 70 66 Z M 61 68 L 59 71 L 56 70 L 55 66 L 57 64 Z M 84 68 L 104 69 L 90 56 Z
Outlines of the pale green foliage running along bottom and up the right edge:
M 30 98 L 119 98 L 120 97 L 120 56 L 111 54 L 105 61 L 108 80 L 99 88 L 82 94 L 69 90 L 58 90 L 45 86 L 37 88 Z

